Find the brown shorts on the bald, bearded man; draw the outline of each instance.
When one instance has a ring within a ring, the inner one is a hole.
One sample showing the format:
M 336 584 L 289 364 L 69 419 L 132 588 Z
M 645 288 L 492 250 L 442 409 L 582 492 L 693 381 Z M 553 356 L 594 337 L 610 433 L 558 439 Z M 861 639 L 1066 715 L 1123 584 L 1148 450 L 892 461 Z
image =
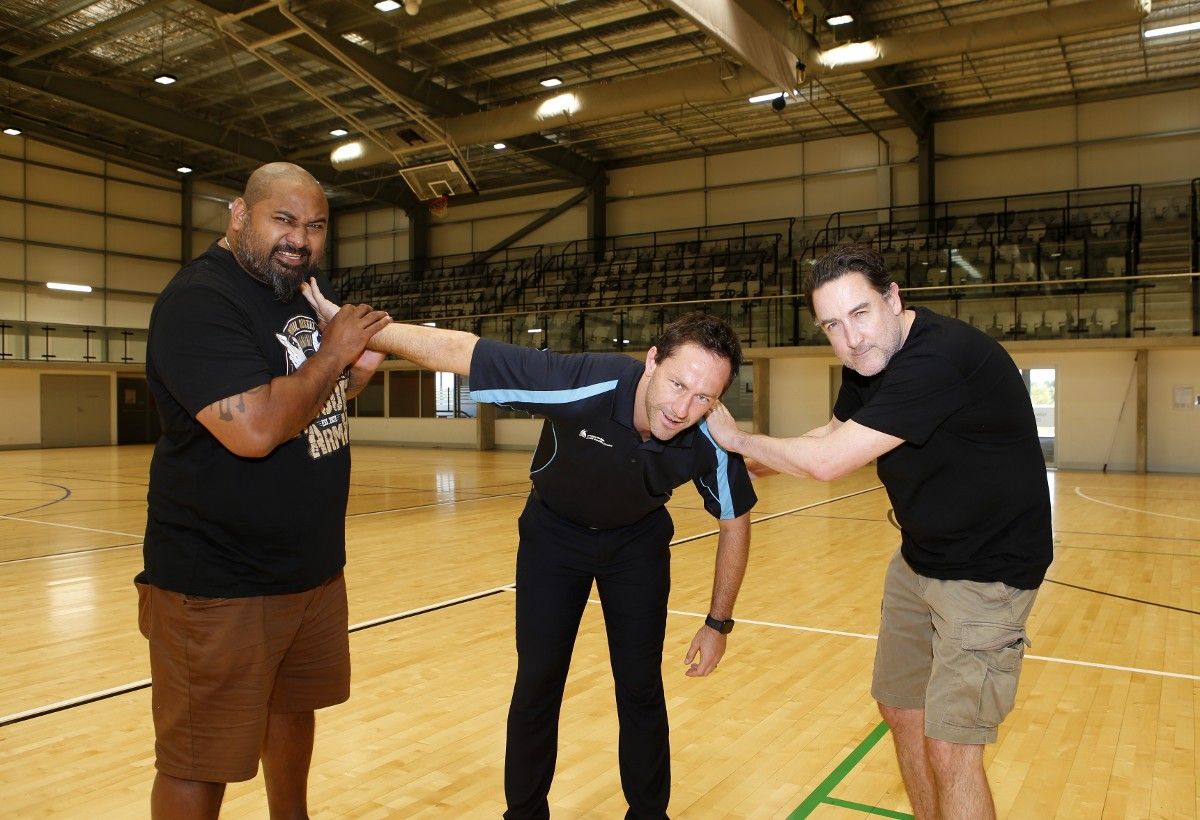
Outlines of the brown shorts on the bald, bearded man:
M 138 587 L 150 640 L 155 766 L 185 780 L 258 773 L 270 712 L 311 712 L 350 695 L 346 580 L 259 598 Z

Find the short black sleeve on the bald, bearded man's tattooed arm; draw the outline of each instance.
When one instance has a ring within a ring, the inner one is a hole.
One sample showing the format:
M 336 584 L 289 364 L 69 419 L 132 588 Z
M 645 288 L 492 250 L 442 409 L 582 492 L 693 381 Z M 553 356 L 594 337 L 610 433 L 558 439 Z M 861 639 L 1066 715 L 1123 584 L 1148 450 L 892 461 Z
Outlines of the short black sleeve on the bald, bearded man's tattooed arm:
M 272 377 L 250 317 L 208 287 L 181 288 L 158 304 L 149 354 L 163 385 L 193 417 Z

